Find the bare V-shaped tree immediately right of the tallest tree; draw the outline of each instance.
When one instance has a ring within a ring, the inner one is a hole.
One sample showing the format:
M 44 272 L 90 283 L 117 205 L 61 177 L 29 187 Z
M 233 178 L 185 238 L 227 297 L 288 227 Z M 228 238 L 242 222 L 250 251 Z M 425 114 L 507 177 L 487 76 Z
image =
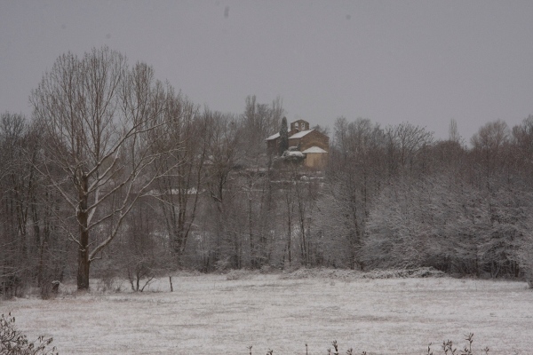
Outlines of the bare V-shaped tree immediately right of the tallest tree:
M 155 180 L 163 221 L 171 240 L 177 264 L 183 263 L 188 237 L 195 223 L 203 189 L 205 162 L 208 154 L 206 133 L 209 124 L 198 107 L 189 100 L 168 91 L 164 111 L 168 135 L 158 140 L 160 151 L 171 151 L 155 160 L 155 170 L 163 174 Z

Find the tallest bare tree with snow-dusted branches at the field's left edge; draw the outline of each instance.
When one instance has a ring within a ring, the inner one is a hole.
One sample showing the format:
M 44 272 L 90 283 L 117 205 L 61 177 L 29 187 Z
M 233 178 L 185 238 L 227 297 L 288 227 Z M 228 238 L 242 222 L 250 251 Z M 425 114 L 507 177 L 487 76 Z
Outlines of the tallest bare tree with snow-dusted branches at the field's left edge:
M 164 123 L 163 91 L 151 67 L 129 68 L 122 54 L 107 47 L 83 58 L 61 55 L 32 91 L 49 152 L 40 171 L 77 223 L 69 235 L 78 248 L 78 289 L 89 288 L 91 262 L 156 176 L 147 173 L 156 155 L 152 133 Z

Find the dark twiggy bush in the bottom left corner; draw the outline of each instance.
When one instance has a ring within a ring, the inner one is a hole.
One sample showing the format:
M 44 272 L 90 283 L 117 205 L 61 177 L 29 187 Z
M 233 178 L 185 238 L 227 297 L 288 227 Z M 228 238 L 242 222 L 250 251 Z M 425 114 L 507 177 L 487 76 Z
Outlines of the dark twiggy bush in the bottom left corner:
M 28 337 L 20 333 L 15 327 L 15 317 L 11 313 L 7 318 L 2 314 L 0 318 L 0 355 L 57 355 L 55 346 L 52 350 L 46 347 L 52 343 L 52 338 L 39 336 L 35 342 L 28 341 Z

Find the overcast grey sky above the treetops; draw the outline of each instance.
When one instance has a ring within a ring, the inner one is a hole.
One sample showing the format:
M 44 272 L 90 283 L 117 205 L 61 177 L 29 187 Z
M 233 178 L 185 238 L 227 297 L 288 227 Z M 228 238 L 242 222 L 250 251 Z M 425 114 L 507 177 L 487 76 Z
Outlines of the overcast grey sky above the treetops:
M 107 44 L 189 99 L 243 113 L 277 96 L 289 121 L 411 122 L 468 140 L 533 114 L 533 1 L 0 0 L 0 112 L 60 54 Z

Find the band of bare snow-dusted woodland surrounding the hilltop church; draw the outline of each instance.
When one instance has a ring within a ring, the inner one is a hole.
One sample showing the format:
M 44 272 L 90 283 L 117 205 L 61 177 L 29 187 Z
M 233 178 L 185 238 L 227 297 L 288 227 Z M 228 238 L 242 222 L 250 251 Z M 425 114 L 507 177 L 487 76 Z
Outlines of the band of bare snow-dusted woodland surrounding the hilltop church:
M 281 99 L 195 105 L 107 47 L 56 60 L 0 122 L 4 294 L 179 269 L 433 266 L 531 279 L 533 116 L 449 139 L 339 117 L 328 167 L 268 152 Z

